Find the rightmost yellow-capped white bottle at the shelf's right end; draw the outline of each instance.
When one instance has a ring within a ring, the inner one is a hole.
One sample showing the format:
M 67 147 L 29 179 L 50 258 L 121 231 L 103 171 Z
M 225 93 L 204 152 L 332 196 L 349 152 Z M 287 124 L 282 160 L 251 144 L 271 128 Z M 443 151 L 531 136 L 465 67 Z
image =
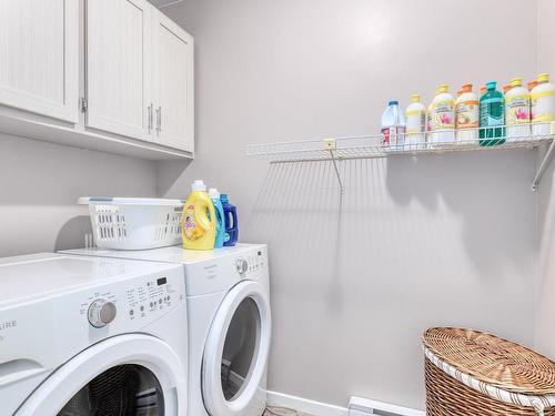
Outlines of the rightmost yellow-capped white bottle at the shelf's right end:
M 555 85 L 549 82 L 549 74 L 537 75 L 537 85 L 531 91 L 532 134 L 551 133 L 551 122 L 555 121 Z

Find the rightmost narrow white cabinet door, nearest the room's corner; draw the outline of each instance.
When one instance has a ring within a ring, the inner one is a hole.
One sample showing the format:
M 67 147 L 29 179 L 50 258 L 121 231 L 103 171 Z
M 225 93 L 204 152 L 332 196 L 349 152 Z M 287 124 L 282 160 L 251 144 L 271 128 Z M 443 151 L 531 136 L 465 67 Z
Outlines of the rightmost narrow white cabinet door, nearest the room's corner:
M 194 150 L 193 38 L 158 10 L 153 19 L 157 141 Z

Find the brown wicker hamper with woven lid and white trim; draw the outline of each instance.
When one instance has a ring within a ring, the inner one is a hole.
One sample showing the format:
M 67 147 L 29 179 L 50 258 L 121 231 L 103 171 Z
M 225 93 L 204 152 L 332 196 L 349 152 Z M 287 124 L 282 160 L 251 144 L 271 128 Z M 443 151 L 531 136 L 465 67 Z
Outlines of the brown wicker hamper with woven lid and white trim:
M 428 416 L 555 416 L 555 363 L 546 357 L 471 329 L 431 328 L 422 343 Z

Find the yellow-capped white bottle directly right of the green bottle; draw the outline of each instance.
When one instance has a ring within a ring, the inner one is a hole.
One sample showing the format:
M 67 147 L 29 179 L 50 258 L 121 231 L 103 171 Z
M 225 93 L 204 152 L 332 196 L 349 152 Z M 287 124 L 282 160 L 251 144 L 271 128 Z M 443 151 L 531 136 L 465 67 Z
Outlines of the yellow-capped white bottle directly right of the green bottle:
M 509 142 L 529 139 L 529 92 L 522 82 L 522 78 L 512 79 L 505 94 L 505 124 Z

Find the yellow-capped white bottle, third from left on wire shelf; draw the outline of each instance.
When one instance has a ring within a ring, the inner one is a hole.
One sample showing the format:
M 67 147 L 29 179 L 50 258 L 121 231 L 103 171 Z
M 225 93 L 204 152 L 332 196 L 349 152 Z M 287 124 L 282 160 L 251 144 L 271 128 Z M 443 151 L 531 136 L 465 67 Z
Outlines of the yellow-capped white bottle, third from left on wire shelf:
M 452 145 L 455 141 L 455 100 L 447 84 L 441 84 L 427 111 L 431 149 Z

